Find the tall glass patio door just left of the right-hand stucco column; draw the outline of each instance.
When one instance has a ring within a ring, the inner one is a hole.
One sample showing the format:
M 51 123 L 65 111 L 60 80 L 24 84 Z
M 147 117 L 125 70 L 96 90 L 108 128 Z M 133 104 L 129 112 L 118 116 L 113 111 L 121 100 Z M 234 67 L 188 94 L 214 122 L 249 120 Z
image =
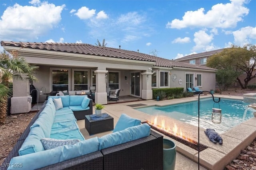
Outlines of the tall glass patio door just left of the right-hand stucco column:
M 140 96 L 140 72 L 131 73 L 131 95 Z

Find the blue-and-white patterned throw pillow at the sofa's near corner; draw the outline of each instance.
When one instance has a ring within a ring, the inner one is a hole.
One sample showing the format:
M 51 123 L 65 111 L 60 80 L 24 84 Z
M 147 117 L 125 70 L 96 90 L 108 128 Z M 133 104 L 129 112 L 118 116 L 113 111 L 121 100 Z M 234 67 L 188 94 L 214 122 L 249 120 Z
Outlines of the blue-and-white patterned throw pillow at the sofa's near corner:
M 74 145 L 80 142 L 80 140 L 79 139 L 62 140 L 62 139 L 42 138 L 41 142 L 44 146 L 44 149 L 48 150 L 48 149 L 54 149 L 56 147 L 60 147 L 63 145 Z

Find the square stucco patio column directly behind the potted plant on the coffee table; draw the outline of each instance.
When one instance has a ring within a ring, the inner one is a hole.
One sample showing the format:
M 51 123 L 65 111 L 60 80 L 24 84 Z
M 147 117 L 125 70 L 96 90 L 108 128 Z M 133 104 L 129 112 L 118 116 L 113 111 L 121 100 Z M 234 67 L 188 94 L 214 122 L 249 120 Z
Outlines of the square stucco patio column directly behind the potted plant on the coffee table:
M 96 104 L 108 104 L 108 96 L 106 92 L 106 73 L 107 70 L 95 70 L 96 74 L 96 92 L 95 103 Z

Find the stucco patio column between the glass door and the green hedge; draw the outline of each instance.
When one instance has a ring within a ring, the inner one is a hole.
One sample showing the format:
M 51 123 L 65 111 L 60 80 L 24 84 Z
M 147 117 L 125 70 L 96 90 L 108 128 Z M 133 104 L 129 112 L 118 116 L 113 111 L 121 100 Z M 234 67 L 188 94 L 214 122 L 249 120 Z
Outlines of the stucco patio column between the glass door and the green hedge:
M 152 74 L 153 72 L 142 72 L 142 99 L 150 100 L 153 98 L 153 92 L 151 88 Z

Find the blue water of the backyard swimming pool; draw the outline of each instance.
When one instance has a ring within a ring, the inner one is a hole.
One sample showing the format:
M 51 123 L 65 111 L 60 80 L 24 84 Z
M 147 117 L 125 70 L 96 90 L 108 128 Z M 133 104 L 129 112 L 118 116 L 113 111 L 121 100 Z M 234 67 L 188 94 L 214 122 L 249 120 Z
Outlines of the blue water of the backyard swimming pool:
M 217 99 L 218 100 L 218 99 Z M 220 99 L 220 109 L 222 109 L 222 122 L 220 124 L 212 123 L 212 98 L 200 99 L 200 127 L 215 129 L 218 133 L 224 133 L 232 127 L 243 122 L 244 111 L 248 103 L 242 100 Z M 219 105 L 214 104 L 215 108 Z M 166 115 L 173 119 L 198 126 L 198 101 L 174 104 L 168 106 L 149 106 L 136 108 L 149 115 Z M 254 109 L 248 109 L 244 121 L 254 117 Z

